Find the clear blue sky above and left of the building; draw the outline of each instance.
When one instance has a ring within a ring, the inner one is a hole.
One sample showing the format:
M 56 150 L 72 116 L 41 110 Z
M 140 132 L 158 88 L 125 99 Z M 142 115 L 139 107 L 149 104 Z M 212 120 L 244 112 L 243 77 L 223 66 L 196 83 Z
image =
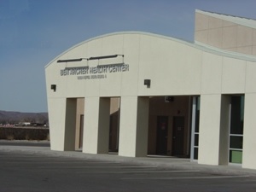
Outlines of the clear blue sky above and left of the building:
M 195 9 L 256 19 L 256 0 L 0 0 L 0 110 L 47 112 L 44 66 L 75 44 L 143 31 L 193 42 Z

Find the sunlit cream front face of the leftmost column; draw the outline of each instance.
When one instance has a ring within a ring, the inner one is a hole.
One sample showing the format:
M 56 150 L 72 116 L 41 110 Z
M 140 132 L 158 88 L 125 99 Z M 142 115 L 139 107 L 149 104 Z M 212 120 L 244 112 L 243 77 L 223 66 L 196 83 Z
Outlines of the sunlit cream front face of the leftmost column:
M 66 98 L 48 98 L 50 149 L 63 151 Z

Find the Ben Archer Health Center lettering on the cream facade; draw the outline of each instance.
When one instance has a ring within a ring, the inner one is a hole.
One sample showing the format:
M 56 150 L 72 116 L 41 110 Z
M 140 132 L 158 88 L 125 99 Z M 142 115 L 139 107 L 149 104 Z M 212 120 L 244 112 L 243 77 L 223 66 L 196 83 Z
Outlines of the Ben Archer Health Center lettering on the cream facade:
M 97 67 L 66 67 L 61 69 L 61 76 L 77 76 L 82 79 L 107 79 L 108 73 L 123 73 L 129 71 L 129 64 L 119 63 Z

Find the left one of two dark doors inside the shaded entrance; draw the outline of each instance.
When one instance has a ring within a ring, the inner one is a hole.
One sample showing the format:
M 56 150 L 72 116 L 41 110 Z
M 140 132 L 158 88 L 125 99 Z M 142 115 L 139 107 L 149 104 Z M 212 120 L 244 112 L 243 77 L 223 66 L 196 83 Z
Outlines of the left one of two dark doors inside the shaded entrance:
M 157 146 L 156 154 L 167 154 L 168 117 L 157 117 Z

